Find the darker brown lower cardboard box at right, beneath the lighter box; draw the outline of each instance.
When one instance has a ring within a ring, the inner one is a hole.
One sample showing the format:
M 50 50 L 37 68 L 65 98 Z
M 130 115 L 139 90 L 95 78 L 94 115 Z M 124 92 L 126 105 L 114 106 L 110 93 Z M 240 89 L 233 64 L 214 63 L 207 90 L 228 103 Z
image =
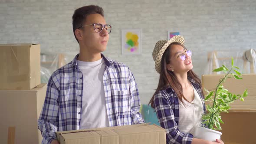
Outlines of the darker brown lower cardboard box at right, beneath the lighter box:
M 221 114 L 224 144 L 255 144 L 256 110 L 231 109 Z

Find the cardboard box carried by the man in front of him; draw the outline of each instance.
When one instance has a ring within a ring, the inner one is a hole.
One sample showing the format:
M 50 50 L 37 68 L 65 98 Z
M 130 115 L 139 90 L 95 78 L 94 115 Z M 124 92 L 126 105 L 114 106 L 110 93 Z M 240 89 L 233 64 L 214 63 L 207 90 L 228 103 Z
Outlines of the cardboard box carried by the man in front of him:
M 56 136 L 60 144 L 166 144 L 165 129 L 155 124 L 61 131 Z

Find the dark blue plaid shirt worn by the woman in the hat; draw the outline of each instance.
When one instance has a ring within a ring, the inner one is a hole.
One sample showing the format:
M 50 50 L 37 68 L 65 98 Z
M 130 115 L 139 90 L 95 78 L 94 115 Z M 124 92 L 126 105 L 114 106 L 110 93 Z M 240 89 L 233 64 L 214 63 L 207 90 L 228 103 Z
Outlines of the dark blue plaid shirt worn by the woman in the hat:
M 197 84 L 194 79 L 190 79 L 189 77 L 188 79 L 200 95 L 203 104 L 203 114 L 205 114 L 204 97 L 201 85 Z M 170 86 L 154 95 L 154 106 L 161 127 L 167 130 L 166 144 L 191 144 L 193 135 L 181 132 L 178 129 L 179 99 Z M 201 126 L 204 127 L 203 124 Z

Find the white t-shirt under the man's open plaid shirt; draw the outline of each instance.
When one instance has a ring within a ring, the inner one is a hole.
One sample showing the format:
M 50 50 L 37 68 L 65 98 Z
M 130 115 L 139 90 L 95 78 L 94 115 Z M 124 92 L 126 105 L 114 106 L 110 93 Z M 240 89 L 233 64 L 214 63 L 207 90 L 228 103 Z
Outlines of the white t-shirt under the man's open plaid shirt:
M 83 74 L 80 129 L 109 127 L 103 87 L 104 59 L 95 62 L 77 60 L 77 65 Z

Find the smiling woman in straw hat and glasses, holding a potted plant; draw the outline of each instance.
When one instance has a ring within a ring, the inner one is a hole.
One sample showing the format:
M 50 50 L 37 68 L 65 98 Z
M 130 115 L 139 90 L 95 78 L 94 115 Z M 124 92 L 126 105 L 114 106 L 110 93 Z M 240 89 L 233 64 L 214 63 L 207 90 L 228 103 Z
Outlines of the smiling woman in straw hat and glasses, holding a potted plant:
M 194 138 L 194 126 L 204 126 L 204 97 L 200 79 L 192 71 L 192 52 L 184 46 L 183 36 L 160 40 L 153 51 L 155 69 L 160 74 L 158 88 L 150 100 L 167 144 L 224 144 Z

